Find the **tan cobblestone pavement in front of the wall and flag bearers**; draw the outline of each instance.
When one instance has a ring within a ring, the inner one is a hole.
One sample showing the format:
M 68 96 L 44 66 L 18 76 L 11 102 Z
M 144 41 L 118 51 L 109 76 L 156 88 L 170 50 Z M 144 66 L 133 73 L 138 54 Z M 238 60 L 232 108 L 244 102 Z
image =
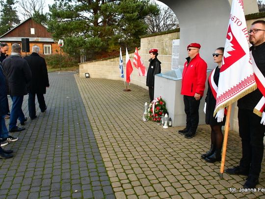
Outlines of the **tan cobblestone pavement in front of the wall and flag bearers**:
M 117 199 L 265 198 L 265 190 L 240 192 L 244 176 L 220 179 L 220 163 L 200 159 L 210 148 L 209 126 L 185 139 L 177 133 L 183 127 L 142 121 L 148 90 L 131 85 L 124 92 L 123 81 L 75 77 Z M 225 168 L 240 157 L 238 133 L 230 132 Z M 264 189 L 265 161 L 262 167 L 257 188 Z

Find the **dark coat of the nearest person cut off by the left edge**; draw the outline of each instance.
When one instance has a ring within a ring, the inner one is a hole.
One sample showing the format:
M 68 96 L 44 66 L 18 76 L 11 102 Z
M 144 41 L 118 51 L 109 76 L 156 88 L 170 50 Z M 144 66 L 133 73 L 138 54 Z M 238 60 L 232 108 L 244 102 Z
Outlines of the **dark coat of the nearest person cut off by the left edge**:
M 0 116 L 7 114 L 7 112 L 7 87 L 2 66 L 0 66 Z

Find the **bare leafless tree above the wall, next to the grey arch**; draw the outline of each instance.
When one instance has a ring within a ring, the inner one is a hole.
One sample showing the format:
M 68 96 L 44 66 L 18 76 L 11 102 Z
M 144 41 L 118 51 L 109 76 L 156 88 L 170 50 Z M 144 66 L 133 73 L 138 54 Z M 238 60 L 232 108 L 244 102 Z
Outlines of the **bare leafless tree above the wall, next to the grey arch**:
M 159 9 L 159 15 L 148 15 L 145 19 L 148 25 L 148 33 L 162 32 L 179 27 L 179 21 L 169 7 L 159 7 Z

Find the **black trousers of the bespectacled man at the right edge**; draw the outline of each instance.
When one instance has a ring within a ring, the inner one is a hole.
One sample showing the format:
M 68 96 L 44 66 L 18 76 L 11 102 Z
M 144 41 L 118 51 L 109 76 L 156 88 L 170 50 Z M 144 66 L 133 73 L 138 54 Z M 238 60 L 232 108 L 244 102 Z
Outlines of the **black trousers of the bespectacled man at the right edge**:
M 239 136 L 242 142 L 242 158 L 239 166 L 249 170 L 249 176 L 259 177 L 263 159 L 265 125 L 261 117 L 251 110 L 238 109 Z

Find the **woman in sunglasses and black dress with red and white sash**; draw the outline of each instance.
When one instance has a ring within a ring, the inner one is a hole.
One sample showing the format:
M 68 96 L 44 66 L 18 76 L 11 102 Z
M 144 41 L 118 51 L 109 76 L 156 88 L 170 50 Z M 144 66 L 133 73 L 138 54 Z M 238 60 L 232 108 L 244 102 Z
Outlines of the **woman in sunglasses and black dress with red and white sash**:
M 213 111 L 216 104 L 216 94 L 218 88 L 218 80 L 220 74 L 220 68 L 222 66 L 222 58 L 224 54 L 224 48 L 219 47 L 212 54 L 213 62 L 217 63 L 217 67 L 212 71 L 208 78 L 208 91 L 205 98 L 205 108 L 206 113 L 205 122 L 211 126 L 211 149 L 206 154 L 201 155 L 203 159 L 207 162 L 216 162 L 221 160 L 221 150 L 223 144 L 223 133 L 222 126 L 225 125 L 225 117 L 221 122 L 218 122 L 216 118 L 213 117 Z

